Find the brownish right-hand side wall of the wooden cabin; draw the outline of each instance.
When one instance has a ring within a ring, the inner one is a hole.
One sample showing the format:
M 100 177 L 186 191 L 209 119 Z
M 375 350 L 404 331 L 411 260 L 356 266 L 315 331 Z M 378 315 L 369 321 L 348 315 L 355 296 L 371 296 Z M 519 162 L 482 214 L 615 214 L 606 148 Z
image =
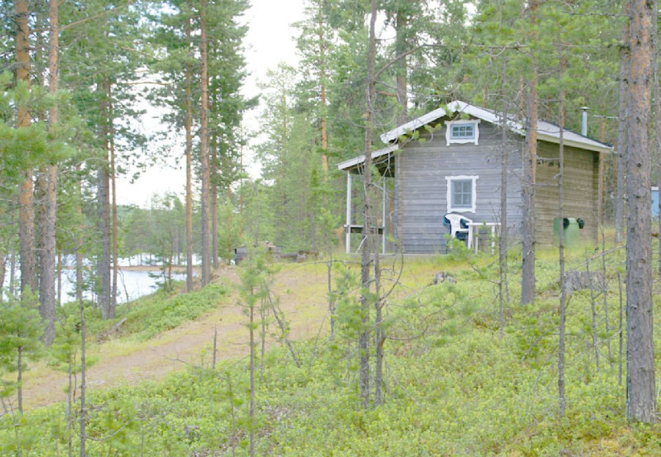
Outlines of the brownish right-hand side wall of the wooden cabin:
M 553 243 L 553 219 L 558 216 L 559 147 L 542 141 L 537 147 L 535 238 L 539 246 Z M 564 147 L 564 217 L 580 217 L 582 242 L 597 239 L 599 153 Z

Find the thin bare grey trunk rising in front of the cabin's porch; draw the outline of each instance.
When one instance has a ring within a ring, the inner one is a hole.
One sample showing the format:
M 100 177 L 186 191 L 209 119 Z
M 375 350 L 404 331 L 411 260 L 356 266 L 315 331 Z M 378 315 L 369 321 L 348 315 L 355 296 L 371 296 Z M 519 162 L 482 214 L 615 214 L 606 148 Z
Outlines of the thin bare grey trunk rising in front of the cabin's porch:
M 372 142 L 372 123 L 374 120 L 374 98 L 376 96 L 374 83 L 374 60 L 376 55 L 376 0 L 370 1 L 371 14 L 369 18 L 369 48 L 368 48 L 368 85 L 366 91 L 366 124 L 365 124 L 365 163 L 363 168 L 363 252 L 360 262 L 360 282 L 363 291 L 360 295 L 360 313 L 362 318 L 362 328 L 358 337 L 358 351 L 360 352 L 360 370 L 359 370 L 359 390 L 360 398 L 364 408 L 369 407 L 369 254 L 371 249 L 371 238 L 374 234 L 371 232 L 375 225 L 371 220 L 371 208 L 369 192 L 372 187 L 371 174 L 371 142 Z

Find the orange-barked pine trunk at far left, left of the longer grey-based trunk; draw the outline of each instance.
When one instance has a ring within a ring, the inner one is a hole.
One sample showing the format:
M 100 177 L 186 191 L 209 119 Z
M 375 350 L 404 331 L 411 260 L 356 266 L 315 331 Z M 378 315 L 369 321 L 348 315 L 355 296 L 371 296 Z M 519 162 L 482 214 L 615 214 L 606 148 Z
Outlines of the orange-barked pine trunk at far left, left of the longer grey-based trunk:
M 28 0 L 14 1 L 16 13 L 16 80 L 30 88 L 30 27 L 28 26 Z M 20 106 L 17 127 L 30 125 L 30 110 Z M 34 201 L 32 196 L 32 170 L 25 170 L 25 180 L 19 188 L 19 245 L 20 291 L 37 290 L 34 262 Z

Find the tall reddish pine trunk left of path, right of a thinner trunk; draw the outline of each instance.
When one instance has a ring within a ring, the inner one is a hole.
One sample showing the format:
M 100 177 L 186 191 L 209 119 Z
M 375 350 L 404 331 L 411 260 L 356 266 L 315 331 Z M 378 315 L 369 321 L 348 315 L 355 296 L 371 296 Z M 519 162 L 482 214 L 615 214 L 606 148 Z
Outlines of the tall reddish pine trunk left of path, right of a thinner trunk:
M 202 175 L 202 287 L 209 283 L 209 81 L 206 30 L 206 0 L 200 2 L 200 174 Z

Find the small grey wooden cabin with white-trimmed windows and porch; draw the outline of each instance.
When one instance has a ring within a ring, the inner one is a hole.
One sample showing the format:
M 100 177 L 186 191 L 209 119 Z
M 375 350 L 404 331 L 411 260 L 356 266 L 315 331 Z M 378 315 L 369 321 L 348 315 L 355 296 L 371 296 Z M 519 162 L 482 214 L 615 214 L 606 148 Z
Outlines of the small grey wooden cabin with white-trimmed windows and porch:
M 405 254 L 446 252 L 446 213 L 461 214 L 476 223 L 500 219 L 502 115 L 455 101 L 381 135 L 388 147 L 372 153 L 383 176 L 381 217 L 377 221 L 383 252 L 391 232 Z M 508 118 L 508 231 L 520 234 L 522 222 L 522 155 L 525 127 Z M 535 238 L 553 243 L 558 214 L 559 127 L 537 125 Z M 564 131 L 564 217 L 582 218 L 582 241 L 594 241 L 602 207 L 603 157 L 611 146 Z M 363 171 L 364 156 L 338 164 L 346 171 L 346 250 L 351 234 L 362 232 L 352 209 L 352 176 Z M 387 181 L 394 186 L 387 186 Z M 391 192 L 387 192 L 390 188 Z M 385 223 L 384 223 L 385 221 Z M 391 246 L 388 246 L 390 249 Z

